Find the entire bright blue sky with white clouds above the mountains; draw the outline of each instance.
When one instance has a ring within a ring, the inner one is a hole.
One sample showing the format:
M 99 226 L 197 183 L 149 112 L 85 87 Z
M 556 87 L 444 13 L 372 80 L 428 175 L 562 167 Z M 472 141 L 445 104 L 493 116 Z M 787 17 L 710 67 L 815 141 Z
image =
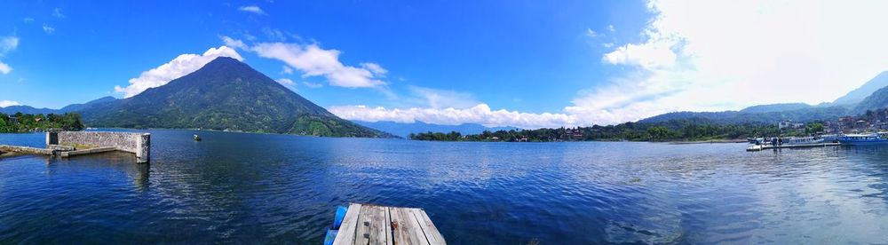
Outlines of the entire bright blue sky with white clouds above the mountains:
M 710 2 L 4 2 L 0 101 L 124 98 L 226 45 L 346 119 L 533 128 L 830 101 L 888 63 L 885 21 L 868 11 L 881 3 Z M 837 70 L 811 72 L 824 67 Z M 746 85 L 775 81 L 813 89 Z

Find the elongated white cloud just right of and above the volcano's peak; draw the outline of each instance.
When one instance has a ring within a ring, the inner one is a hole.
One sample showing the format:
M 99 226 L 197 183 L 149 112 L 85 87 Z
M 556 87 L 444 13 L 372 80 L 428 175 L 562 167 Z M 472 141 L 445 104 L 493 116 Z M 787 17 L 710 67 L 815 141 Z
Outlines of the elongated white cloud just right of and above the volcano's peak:
M 330 85 L 347 88 L 369 88 L 385 85 L 378 79 L 385 69 L 373 63 L 362 67 L 345 66 L 340 52 L 324 50 L 317 44 L 257 43 L 250 47 L 260 57 L 278 59 L 303 72 L 303 77 L 323 75 Z

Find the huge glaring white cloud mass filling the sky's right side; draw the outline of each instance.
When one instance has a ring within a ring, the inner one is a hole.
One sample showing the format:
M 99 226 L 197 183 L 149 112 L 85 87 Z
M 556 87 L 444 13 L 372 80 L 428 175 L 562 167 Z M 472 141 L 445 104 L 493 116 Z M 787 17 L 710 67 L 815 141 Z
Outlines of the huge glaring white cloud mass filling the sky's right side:
M 565 112 L 622 123 L 671 111 L 831 101 L 888 70 L 888 2 L 653 0 L 643 41 L 602 57 L 627 75 Z

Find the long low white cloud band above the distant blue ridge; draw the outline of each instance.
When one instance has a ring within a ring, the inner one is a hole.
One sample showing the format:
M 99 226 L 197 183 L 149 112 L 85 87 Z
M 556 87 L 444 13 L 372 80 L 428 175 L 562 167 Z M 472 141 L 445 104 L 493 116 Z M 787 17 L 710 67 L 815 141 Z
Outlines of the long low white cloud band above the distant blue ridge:
M 385 107 L 341 106 L 330 107 L 329 111 L 347 120 L 367 122 L 393 121 L 398 123 L 415 123 L 416 121 L 421 121 L 445 125 L 479 123 L 488 127 L 514 126 L 526 129 L 574 124 L 574 119 L 572 119 L 573 116 L 571 115 L 529 114 L 502 109 L 491 110 L 487 104 L 478 104 L 464 109 L 453 107 L 387 109 Z

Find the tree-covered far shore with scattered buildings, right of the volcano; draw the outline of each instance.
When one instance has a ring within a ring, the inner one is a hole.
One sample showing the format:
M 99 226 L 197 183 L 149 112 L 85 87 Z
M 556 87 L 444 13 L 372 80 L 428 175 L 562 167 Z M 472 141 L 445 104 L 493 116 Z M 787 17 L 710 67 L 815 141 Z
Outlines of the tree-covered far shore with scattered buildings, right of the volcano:
M 831 120 L 776 123 L 712 123 L 703 119 L 675 119 L 658 123 L 621 123 L 617 125 L 536 130 L 486 130 L 479 134 L 457 131 L 421 132 L 410 139 L 436 141 L 491 142 L 561 142 L 561 141 L 704 141 L 745 142 L 754 138 L 821 138 L 828 141 L 840 135 L 867 134 L 888 130 L 888 109 L 868 110 L 857 116 L 839 116 Z M 751 141 L 750 141 L 751 142 Z

